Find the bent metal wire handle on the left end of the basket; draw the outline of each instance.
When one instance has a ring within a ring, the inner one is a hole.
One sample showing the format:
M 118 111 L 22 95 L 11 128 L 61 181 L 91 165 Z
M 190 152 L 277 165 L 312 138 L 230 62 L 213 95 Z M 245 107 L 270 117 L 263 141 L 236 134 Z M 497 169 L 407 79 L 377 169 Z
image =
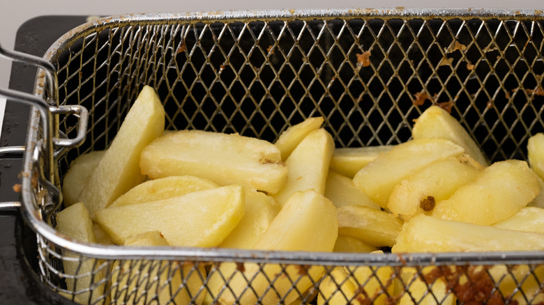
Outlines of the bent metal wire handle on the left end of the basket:
M 24 146 L 8 146 L 0 148 L 0 157 L 20 157 L 23 153 L 32 153 L 35 162 L 39 162 L 40 156 L 43 156 L 43 171 L 38 174 L 38 180 L 40 185 L 47 189 L 50 194 L 50 200 L 45 201 L 43 210 L 52 212 L 62 202 L 61 191 L 54 186 L 54 155 L 55 147 L 77 147 L 80 146 L 84 139 L 89 122 L 89 111 L 85 107 L 80 105 L 59 105 L 59 88 L 58 79 L 56 77 L 56 71 L 52 63 L 45 61 L 45 59 L 38 56 L 32 56 L 21 52 L 7 51 L 0 45 L 0 56 L 10 58 L 13 61 L 19 61 L 28 63 L 30 65 L 36 65 L 45 71 L 47 78 L 47 86 L 50 91 L 50 97 L 47 100 L 31 95 L 29 93 L 22 93 L 11 89 L 0 88 L 0 96 L 6 97 L 13 102 L 20 102 L 36 107 L 38 110 L 40 120 L 42 122 L 43 141 L 38 141 L 35 148 L 26 148 Z M 74 114 L 80 119 L 77 126 L 77 135 L 73 139 L 61 139 L 54 136 L 54 114 Z M 33 151 L 29 152 L 31 149 Z M 11 210 L 13 208 L 20 207 L 19 202 L 6 202 L 0 203 L 1 210 Z

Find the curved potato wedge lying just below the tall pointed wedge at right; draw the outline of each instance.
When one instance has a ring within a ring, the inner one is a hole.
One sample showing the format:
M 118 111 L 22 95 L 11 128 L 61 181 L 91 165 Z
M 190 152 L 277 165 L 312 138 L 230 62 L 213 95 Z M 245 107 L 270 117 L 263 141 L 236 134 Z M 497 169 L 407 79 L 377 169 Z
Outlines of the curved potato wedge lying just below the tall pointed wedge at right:
M 396 185 L 432 162 L 460 157 L 464 149 L 444 139 L 411 140 L 382 153 L 356 173 L 353 182 L 372 201 L 386 208 Z

